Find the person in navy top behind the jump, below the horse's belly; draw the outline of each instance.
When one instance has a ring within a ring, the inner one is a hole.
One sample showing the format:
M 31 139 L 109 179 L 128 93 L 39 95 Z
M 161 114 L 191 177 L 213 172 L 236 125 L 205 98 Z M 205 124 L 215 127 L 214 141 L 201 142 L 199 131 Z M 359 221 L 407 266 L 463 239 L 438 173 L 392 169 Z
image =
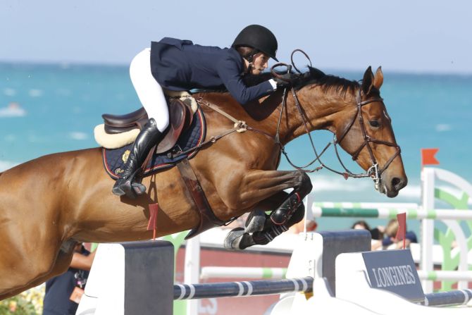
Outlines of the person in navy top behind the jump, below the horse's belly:
M 95 252 L 90 253 L 82 243 L 75 246 L 68 270 L 46 281 L 43 315 L 75 314 L 94 257 Z

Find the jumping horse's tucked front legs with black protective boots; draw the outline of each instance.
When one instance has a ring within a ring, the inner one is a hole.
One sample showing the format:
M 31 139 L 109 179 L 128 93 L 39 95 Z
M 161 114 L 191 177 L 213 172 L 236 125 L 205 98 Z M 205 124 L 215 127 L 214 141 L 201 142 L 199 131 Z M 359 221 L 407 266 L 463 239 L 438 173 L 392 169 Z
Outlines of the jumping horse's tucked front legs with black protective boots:
M 225 247 L 230 249 L 244 249 L 256 244 L 266 245 L 290 226 L 301 221 L 304 216 L 302 200 L 312 188 L 308 175 L 299 171 L 255 171 L 247 175 L 244 183 L 247 183 L 246 180 L 250 181 L 245 189 L 246 192 L 242 194 L 249 197 L 246 202 L 252 198 L 261 198 L 271 190 L 277 191 L 256 205 L 256 209 L 273 211 L 270 216 L 266 216 L 263 211 L 259 211 L 258 216 L 253 215 L 254 212 L 249 216 L 247 227 L 258 226 L 251 222 L 258 218 L 259 221 L 265 221 L 261 230 L 254 231 L 248 228 L 232 230 L 225 239 Z M 283 191 L 288 188 L 293 188 L 290 194 Z

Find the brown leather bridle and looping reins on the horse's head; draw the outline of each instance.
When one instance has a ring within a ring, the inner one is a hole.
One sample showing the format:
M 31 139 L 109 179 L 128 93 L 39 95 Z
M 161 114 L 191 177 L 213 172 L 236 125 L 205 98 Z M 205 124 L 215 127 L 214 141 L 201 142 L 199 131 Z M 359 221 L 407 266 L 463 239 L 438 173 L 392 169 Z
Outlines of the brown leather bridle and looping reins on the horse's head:
M 297 49 L 297 50 L 292 52 L 292 64 L 293 64 L 293 54 L 296 51 L 300 51 L 300 50 Z M 303 54 L 305 54 L 304 51 L 301 51 L 301 52 Z M 306 56 L 306 54 L 305 54 L 305 56 Z M 308 56 L 306 56 L 306 57 L 308 58 Z M 287 70 L 288 71 L 291 70 L 290 65 L 287 65 L 285 63 L 277 63 L 271 68 L 271 73 L 275 77 L 278 76 L 278 73 L 275 73 L 274 68 L 278 67 L 278 66 L 287 66 Z M 301 72 L 295 66 L 294 66 L 294 68 L 301 74 Z M 343 175 L 345 179 L 347 179 L 349 177 L 351 177 L 351 178 L 370 177 L 370 178 L 373 179 L 373 181 L 375 183 L 375 187 L 378 189 L 378 186 L 380 185 L 380 180 L 381 180 L 382 173 L 388 168 L 388 166 L 390 166 L 390 163 L 392 163 L 392 161 L 401 152 L 401 149 L 400 149 L 399 145 L 396 144 L 395 142 L 387 142 L 387 141 L 375 139 L 375 138 L 369 136 L 366 132 L 366 126 L 365 126 L 364 118 L 363 118 L 363 115 L 362 115 L 362 106 L 365 106 L 367 104 L 371 104 L 371 103 L 374 103 L 374 102 L 381 102 L 383 104 L 383 99 L 381 97 L 373 97 L 371 99 L 366 99 L 365 101 L 362 101 L 362 99 L 361 99 L 361 88 L 359 88 L 359 90 L 356 94 L 356 113 L 354 114 L 354 116 L 352 117 L 351 121 L 346 126 L 346 128 L 344 128 L 344 130 L 343 130 L 341 136 L 339 137 L 339 139 L 337 139 L 336 134 L 334 134 L 333 135 L 333 142 L 328 142 L 328 144 L 326 144 L 326 146 L 323 149 L 323 151 L 321 152 L 321 154 L 318 154 L 318 152 L 316 152 L 316 148 L 315 148 L 315 145 L 313 143 L 313 139 L 311 137 L 311 132 L 309 131 L 309 128 L 308 128 L 308 124 L 306 122 L 306 117 L 305 117 L 305 115 L 302 111 L 302 106 L 301 106 L 301 104 L 299 102 L 299 99 L 297 97 L 297 92 L 296 92 L 296 90 L 293 86 L 290 87 L 290 89 L 292 91 L 292 97 L 293 97 L 294 102 L 295 102 L 295 106 L 297 106 L 297 110 L 299 111 L 300 117 L 302 118 L 306 133 L 309 135 L 309 139 L 310 139 L 310 142 L 311 142 L 311 147 L 312 147 L 313 152 L 316 156 L 316 158 L 313 159 L 313 161 L 306 164 L 305 166 L 296 166 L 296 165 L 294 165 L 294 163 L 292 163 L 292 161 L 288 157 L 287 152 L 285 152 L 285 147 L 280 143 L 280 136 L 279 136 L 280 121 L 282 119 L 283 109 L 284 109 L 285 106 L 287 106 L 287 104 L 286 104 L 287 103 L 287 89 L 288 88 L 285 87 L 285 89 L 283 91 L 283 94 L 282 94 L 282 106 L 280 108 L 280 116 L 279 116 L 279 119 L 278 119 L 277 132 L 276 132 L 276 135 L 275 135 L 275 142 L 277 142 L 278 145 L 280 146 L 281 152 L 285 155 L 285 157 L 286 157 L 287 161 L 290 163 L 290 165 L 293 166 L 294 168 L 297 168 L 299 171 L 304 171 L 304 172 L 307 172 L 307 173 L 319 171 L 321 168 L 326 168 L 329 171 L 332 171 L 333 173 Z M 353 161 L 356 161 L 359 158 L 359 154 L 361 153 L 362 149 L 364 149 L 364 147 L 367 147 L 368 153 L 371 156 L 372 164 L 371 164 L 371 167 L 368 168 L 366 173 L 352 173 L 351 171 L 349 171 L 349 169 L 346 166 L 344 166 L 344 163 L 342 163 L 342 159 L 341 159 L 340 154 L 337 150 L 337 144 L 340 144 L 342 142 L 342 140 L 344 140 L 344 137 L 346 137 L 346 135 L 349 133 L 349 130 L 351 130 L 352 126 L 356 122 L 356 119 L 359 119 L 359 125 L 361 125 L 361 131 L 362 131 L 362 135 L 364 137 L 364 142 L 362 142 L 362 144 L 359 146 L 359 148 L 354 151 L 354 153 L 352 154 L 352 159 L 353 159 Z M 383 168 L 379 168 L 379 166 L 378 166 L 378 161 L 375 159 L 375 156 L 373 155 L 371 143 L 383 144 L 383 145 L 386 145 L 388 147 L 395 147 L 395 149 L 396 149 L 395 154 L 393 154 L 390 157 L 390 159 L 388 159 L 387 163 L 385 163 Z M 336 171 L 335 169 L 330 168 L 329 166 L 326 166 L 325 163 L 323 163 L 321 161 L 321 156 L 326 152 L 326 150 L 328 149 L 328 147 L 330 147 L 331 144 L 333 144 L 333 146 L 335 147 L 335 152 L 336 152 L 337 159 L 340 162 L 342 168 L 344 168 L 344 172 Z M 318 161 L 320 163 L 320 166 L 318 166 L 316 168 L 313 168 L 311 170 L 306 169 L 309 166 L 311 166 L 313 163 L 315 163 L 316 161 Z

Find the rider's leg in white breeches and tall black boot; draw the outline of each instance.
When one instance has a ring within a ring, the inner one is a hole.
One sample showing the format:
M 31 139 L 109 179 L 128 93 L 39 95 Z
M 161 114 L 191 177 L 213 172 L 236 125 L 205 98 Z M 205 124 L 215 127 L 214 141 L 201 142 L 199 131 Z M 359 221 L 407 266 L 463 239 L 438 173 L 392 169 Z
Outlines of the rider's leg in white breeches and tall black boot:
M 150 49 L 144 49 L 135 56 L 130 65 L 132 84 L 136 89 L 139 101 L 147 111 L 149 121 L 137 135 L 125 165 L 125 170 L 113 186 L 113 194 L 118 196 L 126 194 L 130 198 L 135 198 L 136 194 L 143 194 L 146 191 L 144 185 L 135 182 L 136 175 L 140 175 L 139 171 L 142 163 L 144 163 L 151 148 L 162 140 L 163 132 L 169 124 L 166 97 L 164 97 L 161 85 L 156 82 L 151 74 L 149 58 Z

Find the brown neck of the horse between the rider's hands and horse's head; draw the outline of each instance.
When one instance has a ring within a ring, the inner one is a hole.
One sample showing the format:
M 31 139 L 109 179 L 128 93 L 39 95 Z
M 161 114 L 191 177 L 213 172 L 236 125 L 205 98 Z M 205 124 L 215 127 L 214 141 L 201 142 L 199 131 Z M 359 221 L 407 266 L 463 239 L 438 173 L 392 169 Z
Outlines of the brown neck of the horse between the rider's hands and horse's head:
M 345 95 L 335 92 L 323 92 L 322 86 L 302 88 L 297 92 L 299 105 L 304 113 L 302 114 L 297 108 L 295 99 L 292 94 L 287 97 L 287 120 L 284 128 L 280 128 L 280 139 L 285 144 L 294 140 L 300 135 L 306 134 L 306 128 L 313 130 L 330 130 L 335 132 L 336 124 L 344 116 L 347 107 L 355 110 L 353 100 L 354 93 L 346 93 Z M 350 112 L 350 111 L 349 111 Z M 282 119 L 283 121 L 283 119 Z

